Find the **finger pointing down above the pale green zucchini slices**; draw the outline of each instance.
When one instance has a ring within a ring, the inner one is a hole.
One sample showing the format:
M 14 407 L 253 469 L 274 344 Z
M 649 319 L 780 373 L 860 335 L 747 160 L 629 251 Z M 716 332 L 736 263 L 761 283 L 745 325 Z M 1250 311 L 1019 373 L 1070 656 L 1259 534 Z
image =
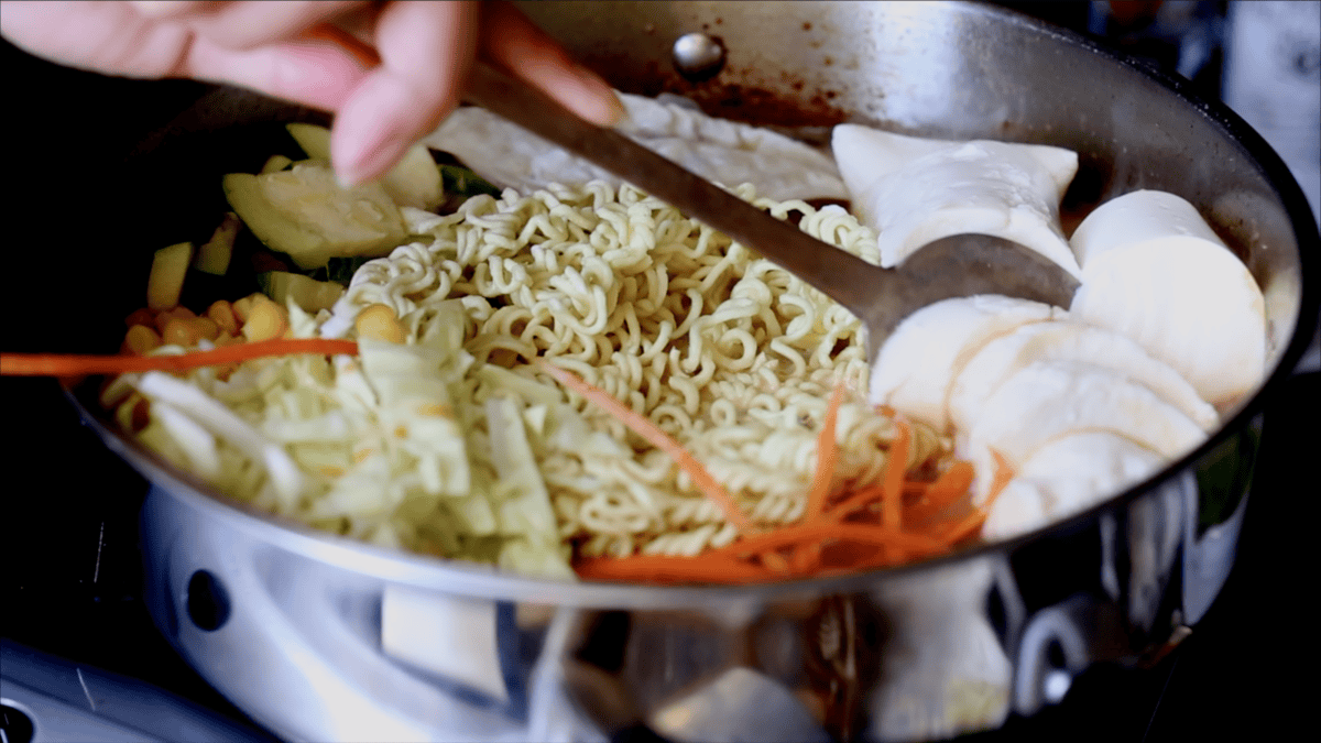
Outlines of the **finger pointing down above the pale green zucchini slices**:
M 330 155 L 345 182 L 383 175 L 458 104 L 477 42 L 473 3 L 390 3 L 375 26 L 380 66 L 339 107 Z

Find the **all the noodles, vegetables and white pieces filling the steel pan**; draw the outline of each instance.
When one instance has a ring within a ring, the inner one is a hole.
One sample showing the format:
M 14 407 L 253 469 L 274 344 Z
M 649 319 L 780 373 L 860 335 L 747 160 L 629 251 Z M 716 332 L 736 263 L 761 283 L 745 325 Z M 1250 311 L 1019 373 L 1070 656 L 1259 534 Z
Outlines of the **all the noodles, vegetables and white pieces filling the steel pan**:
M 791 155 L 802 177 L 771 175 L 769 189 L 839 182 L 802 143 L 625 103 L 625 134 L 662 141 L 678 127 L 712 163 Z M 481 152 L 472 137 L 501 124 L 464 114 L 427 141 Z M 1083 279 L 1070 311 L 937 303 L 869 369 L 852 315 L 631 186 L 499 190 L 417 145 L 379 182 L 343 189 L 328 132 L 289 131 L 308 159 L 226 176 L 234 212 L 210 241 L 157 251 L 123 356 L 5 356 L 3 372 L 111 374 L 102 402 L 164 459 L 235 498 L 390 547 L 609 580 L 896 565 L 1045 525 L 1202 440 L 1218 422 L 1206 401 L 1232 405 L 1255 368 L 1207 382 L 1214 354 L 1170 341 L 1201 333 L 1201 313 L 1223 315 L 1234 353 L 1264 354 L 1259 288 L 1180 197 L 1115 198 L 1065 242 L 1057 202 L 1077 156 L 1059 148 L 838 127 L 867 223 L 733 189 L 873 263 L 900 260 L 882 249 L 900 238 L 913 250 L 970 229 L 1079 256 L 1066 266 Z M 564 157 L 524 141 L 495 160 L 534 172 Z M 926 185 L 901 208 L 906 178 Z M 1021 223 L 968 223 L 968 200 L 982 217 L 1034 206 Z M 1182 313 L 1156 325 L 1125 315 L 1125 297 L 1157 283 L 1124 267 L 1188 253 L 1221 267 L 1219 293 L 1185 291 Z M 262 292 L 180 304 L 194 272 L 247 264 Z M 1213 308 L 1217 296 L 1234 300 Z

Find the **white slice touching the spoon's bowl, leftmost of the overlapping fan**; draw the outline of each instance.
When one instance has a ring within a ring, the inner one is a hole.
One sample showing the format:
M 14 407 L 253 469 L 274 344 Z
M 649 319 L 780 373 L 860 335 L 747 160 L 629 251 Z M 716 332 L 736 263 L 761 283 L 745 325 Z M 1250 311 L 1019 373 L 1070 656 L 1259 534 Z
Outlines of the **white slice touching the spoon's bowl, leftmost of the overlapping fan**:
M 869 399 L 946 430 L 946 395 L 963 365 L 992 338 L 1062 313 L 1049 304 L 999 295 L 923 307 L 900 323 L 881 346 Z

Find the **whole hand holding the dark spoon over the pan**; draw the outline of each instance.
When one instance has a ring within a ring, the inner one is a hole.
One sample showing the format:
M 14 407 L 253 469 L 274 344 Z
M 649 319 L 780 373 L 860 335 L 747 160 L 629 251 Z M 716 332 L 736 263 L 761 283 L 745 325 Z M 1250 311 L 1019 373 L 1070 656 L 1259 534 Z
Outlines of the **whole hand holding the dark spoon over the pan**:
M 354 184 L 388 171 L 458 104 L 474 58 L 503 67 L 589 122 L 622 107 L 513 5 L 476 1 L 4 1 L 0 30 L 62 65 L 132 78 L 250 87 L 333 112 L 330 155 Z M 374 48 L 363 59 L 317 29 Z

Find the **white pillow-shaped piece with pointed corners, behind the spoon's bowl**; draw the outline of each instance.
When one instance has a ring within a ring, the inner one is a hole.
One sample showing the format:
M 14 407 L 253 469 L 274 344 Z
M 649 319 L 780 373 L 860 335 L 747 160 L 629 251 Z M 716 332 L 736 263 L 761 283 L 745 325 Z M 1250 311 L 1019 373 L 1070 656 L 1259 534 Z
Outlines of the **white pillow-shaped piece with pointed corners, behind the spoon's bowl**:
M 1078 172 L 1075 152 L 857 124 L 835 127 L 831 148 L 853 212 L 878 233 L 881 266 L 898 266 L 929 242 L 978 233 L 1021 243 L 1079 275 L 1059 226 L 1059 201 Z

